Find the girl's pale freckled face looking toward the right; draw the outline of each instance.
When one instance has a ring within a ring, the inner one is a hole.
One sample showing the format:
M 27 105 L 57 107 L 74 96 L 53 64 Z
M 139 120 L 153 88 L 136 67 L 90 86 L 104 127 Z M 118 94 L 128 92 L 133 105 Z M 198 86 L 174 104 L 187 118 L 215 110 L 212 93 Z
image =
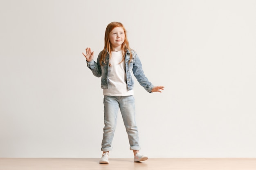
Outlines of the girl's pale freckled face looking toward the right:
M 109 40 L 112 46 L 112 49 L 121 50 L 121 46 L 124 43 L 125 35 L 124 29 L 122 27 L 115 27 L 109 33 Z

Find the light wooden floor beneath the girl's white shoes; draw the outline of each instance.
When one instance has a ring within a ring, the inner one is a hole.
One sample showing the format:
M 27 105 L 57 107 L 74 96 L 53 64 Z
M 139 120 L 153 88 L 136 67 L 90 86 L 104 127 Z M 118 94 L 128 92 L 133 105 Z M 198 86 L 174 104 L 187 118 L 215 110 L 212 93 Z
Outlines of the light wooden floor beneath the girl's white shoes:
M 256 170 L 256 158 L 0 158 L 0 170 Z

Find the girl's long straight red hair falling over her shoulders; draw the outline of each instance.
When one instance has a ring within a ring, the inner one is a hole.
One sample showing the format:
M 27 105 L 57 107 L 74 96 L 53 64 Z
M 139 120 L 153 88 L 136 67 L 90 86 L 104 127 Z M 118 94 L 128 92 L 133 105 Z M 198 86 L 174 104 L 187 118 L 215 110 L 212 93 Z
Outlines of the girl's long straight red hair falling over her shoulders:
M 121 23 L 121 22 L 111 22 L 110 24 L 108 24 L 107 28 L 106 28 L 106 31 L 105 31 L 105 38 L 104 38 L 104 49 L 103 49 L 103 52 L 101 54 L 101 57 L 100 57 L 100 64 L 102 65 L 102 62 L 104 62 L 106 64 L 106 56 L 107 54 L 109 53 L 109 58 L 111 58 L 111 43 L 110 43 L 110 40 L 109 40 L 109 33 L 115 28 L 115 27 L 121 27 L 122 29 L 124 29 L 124 43 L 122 44 L 121 46 L 121 51 L 122 51 L 122 55 L 123 55 L 123 59 L 121 62 L 124 61 L 125 59 L 125 54 L 126 54 L 126 51 L 128 50 L 130 52 L 130 60 L 129 60 L 129 63 L 132 59 L 132 53 L 131 53 L 131 49 L 130 49 L 130 46 L 129 46 L 129 42 L 128 42 L 128 39 L 127 39 L 127 31 L 126 29 L 124 28 L 124 25 Z

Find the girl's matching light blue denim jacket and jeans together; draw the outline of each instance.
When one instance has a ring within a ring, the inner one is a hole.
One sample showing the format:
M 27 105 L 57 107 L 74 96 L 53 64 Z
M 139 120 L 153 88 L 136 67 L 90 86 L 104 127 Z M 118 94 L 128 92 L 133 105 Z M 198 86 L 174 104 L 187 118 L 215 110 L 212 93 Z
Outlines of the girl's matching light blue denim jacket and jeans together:
M 102 62 L 100 65 L 99 59 L 103 51 L 99 53 L 97 62 L 92 60 L 87 62 L 87 66 L 91 69 L 93 75 L 101 77 L 101 88 L 108 88 L 108 67 L 109 67 L 109 53 L 106 56 L 106 64 Z M 138 80 L 139 84 L 143 86 L 149 93 L 152 92 L 153 84 L 148 81 L 142 70 L 142 65 L 135 51 L 132 52 L 132 60 L 130 60 L 130 52 L 127 50 L 125 55 L 126 65 L 126 82 L 128 90 L 132 90 L 134 86 L 133 75 Z M 135 101 L 133 96 L 107 96 L 104 95 L 104 128 L 103 139 L 101 143 L 101 150 L 107 152 L 112 150 L 112 140 L 117 124 L 117 113 L 120 108 L 121 115 L 126 127 L 128 139 L 130 143 L 130 150 L 140 150 L 139 136 L 135 121 Z

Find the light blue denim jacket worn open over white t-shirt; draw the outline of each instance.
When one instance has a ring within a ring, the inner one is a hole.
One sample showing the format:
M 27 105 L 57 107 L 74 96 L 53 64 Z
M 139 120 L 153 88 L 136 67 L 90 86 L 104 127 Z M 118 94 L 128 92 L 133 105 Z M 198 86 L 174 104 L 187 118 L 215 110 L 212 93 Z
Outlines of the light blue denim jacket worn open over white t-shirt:
M 103 51 L 101 51 L 97 58 L 97 63 L 92 60 L 87 62 L 87 66 L 92 71 L 93 75 L 96 77 L 101 77 L 101 88 L 108 88 L 108 67 L 109 67 L 109 53 L 106 56 L 106 64 L 102 62 L 100 65 L 99 59 Z M 125 55 L 125 66 L 126 66 L 126 82 L 128 90 L 132 90 L 134 86 L 134 80 L 132 78 L 132 73 L 138 80 L 139 84 L 145 88 L 146 91 L 152 93 L 152 88 L 154 87 L 151 82 L 148 81 L 148 78 L 144 75 L 142 70 L 142 65 L 135 51 L 132 52 L 132 60 L 130 60 L 130 52 L 127 50 Z

